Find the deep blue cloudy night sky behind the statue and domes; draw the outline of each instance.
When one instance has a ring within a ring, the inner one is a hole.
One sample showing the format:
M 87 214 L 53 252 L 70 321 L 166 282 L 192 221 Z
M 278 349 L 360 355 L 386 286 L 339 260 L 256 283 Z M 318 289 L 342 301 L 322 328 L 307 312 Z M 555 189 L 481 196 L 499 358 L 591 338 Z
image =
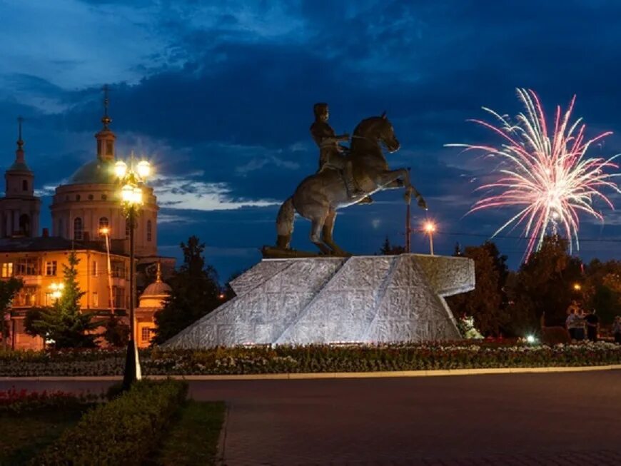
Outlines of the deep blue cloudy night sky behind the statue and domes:
M 512 212 L 465 216 L 494 167 L 443 146 L 498 143 L 466 122 L 485 117 L 482 106 L 515 115 L 515 88 L 525 87 L 552 113 L 577 94 L 587 136 L 621 133 L 619 1 L 0 0 L 0 21 L 0 169 L 14 160 L 24 116 L 41 225 L 54 188 L 95 157 L 108 83 L 117 155 L 133 150 L 157 167 L 160 253 L 179 257 L 178 244 L 198 235 L 221 280 L 260 260 L 278 205 L 315 171 L 317 101 L 330 104 L 337 132 L 387 111 L 401 142 L 389 164 L 412 168 L 430 206 L 413 206 L 413 226 L 438 222 L 440 254 L 482 243 Z M 615 134 L 591 154 L 617 152 Z M 402 194 L 340 211 L 335 240 L 360 254 L 386 235 L 403 244 Z M 621 251 L 601 241 L 619 238 L 620 214 L 598 207 L 605 224 L 582 217 L 583 260 Z M 298 218 L 294 247 L 313 250 L 308 227 Z M 412 243 L 428 252 L 420 233 Z M 525 240 L 497 243 L 517 267 Z

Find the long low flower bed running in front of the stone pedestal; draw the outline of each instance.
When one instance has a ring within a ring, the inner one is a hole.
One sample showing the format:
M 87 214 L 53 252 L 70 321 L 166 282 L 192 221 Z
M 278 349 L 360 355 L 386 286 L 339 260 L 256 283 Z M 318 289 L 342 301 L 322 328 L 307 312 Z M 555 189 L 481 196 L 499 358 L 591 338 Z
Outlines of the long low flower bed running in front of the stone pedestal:
M 621 364 L 621 345 L 455 342 L 141 350 L 145 375 L 373 372 Z M 0 353 L 0 376 L 122 375 L 124 350 Z

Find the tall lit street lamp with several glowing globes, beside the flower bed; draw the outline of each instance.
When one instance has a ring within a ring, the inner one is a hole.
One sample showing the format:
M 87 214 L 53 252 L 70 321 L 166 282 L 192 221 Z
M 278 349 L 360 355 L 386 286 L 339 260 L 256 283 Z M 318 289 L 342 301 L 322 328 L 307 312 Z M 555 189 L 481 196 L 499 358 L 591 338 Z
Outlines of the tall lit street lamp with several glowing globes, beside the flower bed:
M 121 203 L 129 226 L 129 341 L 125 358 L 123 388 L 128 390 L 135 380 L 141 379 L 138 347 L 136 346 L 136 217 L 142 206 L 142 186 L 151 174 L 151 165 L 140 161 L 134 167 L 133 153 L 129 166 L 123 161 L 116 162 L 114 171 L 121 182 Z

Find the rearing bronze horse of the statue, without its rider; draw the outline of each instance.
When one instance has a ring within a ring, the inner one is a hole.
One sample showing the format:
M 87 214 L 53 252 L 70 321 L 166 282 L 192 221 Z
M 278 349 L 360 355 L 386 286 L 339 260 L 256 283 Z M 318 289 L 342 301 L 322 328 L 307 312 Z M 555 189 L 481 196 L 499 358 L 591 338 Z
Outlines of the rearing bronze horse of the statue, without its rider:
M 329 166 L 308 176 L 278 211 L 276 248 L 263 248 L 264 255 L 278 255 L 278 251 L 284 253 L 290 250 L 293 218 L 296 211 L 311 221 L 310 240 L 323 254 L 347 255 L 333 240 L 337 209 L 352 206 L 365 196 L 377 191 L 404 187 L 405 203 L 409 204 L 411 196 L 414 195 L 418 199 L 418 206 L 426 209 L 427 204 L 423 196 L 420 196 L 420 193 L 410 183 L 408 170 L 388 168 L 388 162 L 382 152 L 382 144 L 388 152 L 395 152 L 400 148 L 393 125 L 386 118 L 386 114 L 360 121 L 353 132 L 348 155 L 352 163 L 353 177 L 360 193 L 349 197 L 340 171 Z

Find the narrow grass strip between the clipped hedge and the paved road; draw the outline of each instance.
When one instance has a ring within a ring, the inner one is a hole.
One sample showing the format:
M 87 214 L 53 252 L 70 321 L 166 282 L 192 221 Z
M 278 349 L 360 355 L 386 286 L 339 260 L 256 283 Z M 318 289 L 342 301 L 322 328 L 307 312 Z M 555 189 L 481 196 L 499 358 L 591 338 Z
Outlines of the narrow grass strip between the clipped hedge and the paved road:
M 158 466 L 214 465 L 224 421 L 223 402 L 186 401 L 161 449 L 149 462 Z

